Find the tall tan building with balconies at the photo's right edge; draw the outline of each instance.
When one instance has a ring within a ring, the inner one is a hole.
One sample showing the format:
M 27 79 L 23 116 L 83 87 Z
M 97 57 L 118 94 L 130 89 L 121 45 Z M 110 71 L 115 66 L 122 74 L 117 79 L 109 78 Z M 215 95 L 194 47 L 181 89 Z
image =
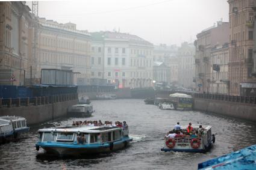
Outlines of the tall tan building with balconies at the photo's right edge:
M 255 0 L 229 0 L 229 80 L 230 94 L 256 96 L 254 67 Z

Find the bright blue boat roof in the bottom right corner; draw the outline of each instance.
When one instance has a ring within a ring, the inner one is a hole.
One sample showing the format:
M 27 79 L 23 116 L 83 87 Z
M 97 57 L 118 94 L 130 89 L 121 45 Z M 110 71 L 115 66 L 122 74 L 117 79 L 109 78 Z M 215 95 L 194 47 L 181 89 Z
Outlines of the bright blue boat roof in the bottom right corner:
M 255 169 L 256 145 L 198 164 L 198 169 Z

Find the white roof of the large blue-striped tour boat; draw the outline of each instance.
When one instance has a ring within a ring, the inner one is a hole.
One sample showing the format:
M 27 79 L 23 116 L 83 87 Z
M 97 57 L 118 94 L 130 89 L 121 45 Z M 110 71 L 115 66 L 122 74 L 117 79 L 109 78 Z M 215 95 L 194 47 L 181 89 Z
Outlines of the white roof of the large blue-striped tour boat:
M 120 127 L 109 126 L 66 126 L 66 127 L 51 127 L 46 129 L 39 129 L 39 132 L 82 132 L 82 133 L 102 133 L 120 130 Z

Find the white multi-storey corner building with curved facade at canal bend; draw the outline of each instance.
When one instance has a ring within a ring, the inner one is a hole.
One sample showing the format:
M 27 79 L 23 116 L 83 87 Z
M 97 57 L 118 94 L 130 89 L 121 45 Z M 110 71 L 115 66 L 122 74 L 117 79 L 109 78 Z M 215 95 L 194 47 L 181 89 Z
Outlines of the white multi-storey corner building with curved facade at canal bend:
M 93 79 L 106 79 L 119 88 L 152 86 L 151 43 L 120 32 L 93 32 L 92 36 Z

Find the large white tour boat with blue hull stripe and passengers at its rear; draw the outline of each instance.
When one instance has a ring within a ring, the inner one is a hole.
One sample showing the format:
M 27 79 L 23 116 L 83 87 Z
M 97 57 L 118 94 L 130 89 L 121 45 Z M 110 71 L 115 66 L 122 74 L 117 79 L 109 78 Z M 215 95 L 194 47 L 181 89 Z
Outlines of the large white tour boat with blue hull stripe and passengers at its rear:
M 128 133 L 128 128 L 109 126 L 83 125 L 39 129 L 36 150 L 41 147 L 47 153 L 58 156 L 108 153 L 127 147 L 133 140 Z

